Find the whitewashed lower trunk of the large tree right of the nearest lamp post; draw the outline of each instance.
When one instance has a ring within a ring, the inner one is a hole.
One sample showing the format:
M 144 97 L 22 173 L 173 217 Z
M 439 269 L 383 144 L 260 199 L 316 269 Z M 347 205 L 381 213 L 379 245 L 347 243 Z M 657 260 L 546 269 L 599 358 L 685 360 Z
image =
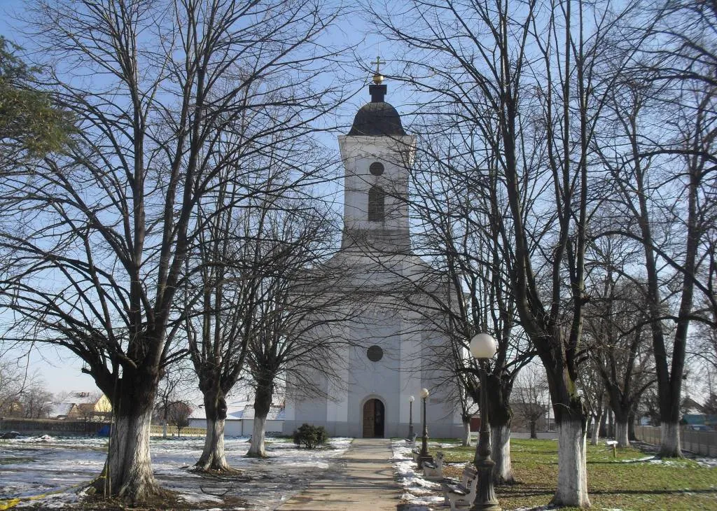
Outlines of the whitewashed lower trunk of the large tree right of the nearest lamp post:
M 558 426 L 558 489 L 551 504 L 590 507 L 587 495 L 586 431 L 580 419 Z

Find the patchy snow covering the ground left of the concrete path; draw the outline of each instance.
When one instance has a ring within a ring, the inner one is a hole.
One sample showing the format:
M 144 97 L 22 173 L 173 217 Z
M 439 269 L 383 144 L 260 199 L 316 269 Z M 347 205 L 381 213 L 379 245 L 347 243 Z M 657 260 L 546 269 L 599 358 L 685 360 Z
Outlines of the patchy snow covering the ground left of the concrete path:
M 100 474 L 107 439 L 34 436 L 0 441 L 0 501 L 19 497 L 17 507 L 69 507 L 78 490 Z M 239 477 L 202 477 L 188 472 L 199 459 L 203 438 L 153 438 L 152 467 L 160 484 L 178 492 L 197 509 L 219 508 L 224 497 L 247 501 L 247 510 L 273 510 L 320 477 L 351 439 L 329 439 L 323 449 L 298 449 L 288 439 L 267 439 L 268 459 L 245 458 L 247 437 L 227 437 L 229 464 Z M 27 497 L 46 495 L 38 500 Z M 212 503 L 214 503 L 212 505 Z M 235 509 L 244 509 L 237 507 Z

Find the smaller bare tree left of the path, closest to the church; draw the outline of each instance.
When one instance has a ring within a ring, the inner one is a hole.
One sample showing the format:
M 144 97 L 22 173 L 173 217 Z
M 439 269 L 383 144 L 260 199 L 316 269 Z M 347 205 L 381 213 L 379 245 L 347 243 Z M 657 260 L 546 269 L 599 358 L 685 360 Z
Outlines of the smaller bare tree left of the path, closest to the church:
M 294 207 L 291 207 L 293 203 Z M 318 267 L 328 255 L 336 226 L 323 206 L 280 201 L 260 211 L 255 254 L 261 264 L 252 271 L 253 303 L 244 328 L 249 329 L 247 372 L 254 386 L 254 429 L 247 456 L 265 457 L 265 426 L 277 383 L 293 378 L 307 395 L 320 394 L 315 380 L 336 379 L 336 350 L 346 345 L 341 335 L 314 335 L 323 325 L 353 317 L 349 297 L 326 293 L 345 277 L 343 266 Z M 320 269 L 317 269 L 320 268 Z M 315 271 L 312 271 L 315 270 Z

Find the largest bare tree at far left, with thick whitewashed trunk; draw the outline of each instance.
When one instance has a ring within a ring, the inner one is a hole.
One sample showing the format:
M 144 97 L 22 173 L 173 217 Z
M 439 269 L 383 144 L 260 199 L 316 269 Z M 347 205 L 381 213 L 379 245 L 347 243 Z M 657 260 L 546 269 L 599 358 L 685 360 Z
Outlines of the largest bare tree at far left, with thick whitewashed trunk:
M 196 208 L 220 178 L 221 134 L 270 109 L 293 80 L 320 75 L 317 38 L 332 14 L 293 1 L 33 6 L 39 54 L 56 65 L 54 97 L 81 130 L 72 151 L 1 184 L 0 293 L 18 318 L 4 338 L 32 333 L 82 358 L 116 418 L 97 486 L 141 502 L 163 494 L 150 466 L 151 411 Z M 290 123 L 326 111 L 325 98 L 303 92 L 284 100 Z

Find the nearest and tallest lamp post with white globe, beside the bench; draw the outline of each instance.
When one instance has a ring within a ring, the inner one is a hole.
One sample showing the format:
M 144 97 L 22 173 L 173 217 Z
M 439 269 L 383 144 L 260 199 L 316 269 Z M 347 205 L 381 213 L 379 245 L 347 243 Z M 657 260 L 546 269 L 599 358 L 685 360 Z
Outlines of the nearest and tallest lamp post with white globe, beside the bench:
M 470 340 L 470 353 L 478 359 L 478 372 L 480 373 L 480 434 L 478 445 L 475 446 L 473 463 L 478 470 L 478 489 L 471 511 L 501 511 L 498 498 L 493 488 L 493 467 L 495 462 L 490 459 L 490 431 L 488 431 L 488 392 L 485 390 L 487 377 L 485 365 L 488 358 L 495 355 L 497 345 L 487 333 L 479 333 Z

